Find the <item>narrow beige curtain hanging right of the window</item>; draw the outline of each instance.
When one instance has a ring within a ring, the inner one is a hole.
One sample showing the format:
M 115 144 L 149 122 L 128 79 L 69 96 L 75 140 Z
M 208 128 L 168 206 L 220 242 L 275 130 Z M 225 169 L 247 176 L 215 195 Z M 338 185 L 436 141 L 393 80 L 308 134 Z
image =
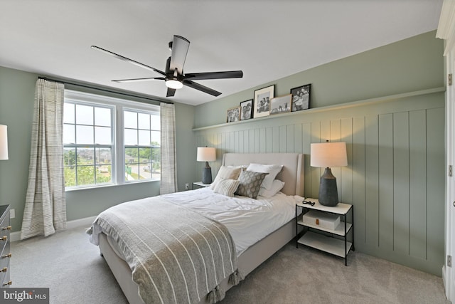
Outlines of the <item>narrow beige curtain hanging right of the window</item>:
M 160 194 L 177 192 L 176 114 L 173 104 L 161 103 Z

